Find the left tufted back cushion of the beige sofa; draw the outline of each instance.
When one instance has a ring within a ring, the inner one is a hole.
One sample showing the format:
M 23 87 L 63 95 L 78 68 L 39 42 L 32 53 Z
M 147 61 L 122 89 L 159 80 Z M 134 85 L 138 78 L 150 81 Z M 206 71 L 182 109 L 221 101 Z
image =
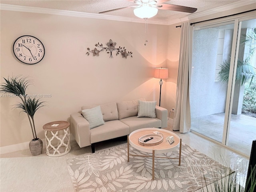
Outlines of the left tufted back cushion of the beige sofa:
M 91 109 L 94 107 L 95 106 L 92 106 L 92 105 L 82 106 L 82 110 Z M 101 109 L 104 121 L 118 120 L 118 111 L 117 111 L 116 102 L 100 105 L 100 109 Z

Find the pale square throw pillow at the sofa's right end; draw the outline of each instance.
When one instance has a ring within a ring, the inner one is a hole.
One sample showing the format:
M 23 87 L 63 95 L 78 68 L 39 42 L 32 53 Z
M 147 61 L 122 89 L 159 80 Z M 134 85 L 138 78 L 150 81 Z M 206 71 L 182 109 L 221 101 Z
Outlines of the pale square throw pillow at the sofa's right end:
M 138 100 L 138 117 L 156 118 L 156 101 Z

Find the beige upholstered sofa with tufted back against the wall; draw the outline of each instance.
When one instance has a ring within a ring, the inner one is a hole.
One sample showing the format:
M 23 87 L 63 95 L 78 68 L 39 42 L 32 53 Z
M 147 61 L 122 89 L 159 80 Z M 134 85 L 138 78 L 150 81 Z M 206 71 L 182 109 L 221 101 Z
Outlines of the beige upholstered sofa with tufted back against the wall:
M 140 101 L 112 102 L 100 105 L 104 123 L 94 128 L 90 128 L 88 120 L 83 116 L 84 113 L 83 115 L 80 112 L 73 113 L 70 115 L 71 132 L 81 148 L 91 145 L 94 153 L 94 144 L 97 142 L 126 136 L 140 128 L 167 127 L 167 110 L 160 106 L 155 106 L 155 118 L 144 117 L 147 116 L 142 112 L 142 104 L 145 103 L 150 102 L 140 99 Z M 155 103 L 151 103 L 155 105 Z M 82 106 L 82 112 L 98 108 L 95 107 Z

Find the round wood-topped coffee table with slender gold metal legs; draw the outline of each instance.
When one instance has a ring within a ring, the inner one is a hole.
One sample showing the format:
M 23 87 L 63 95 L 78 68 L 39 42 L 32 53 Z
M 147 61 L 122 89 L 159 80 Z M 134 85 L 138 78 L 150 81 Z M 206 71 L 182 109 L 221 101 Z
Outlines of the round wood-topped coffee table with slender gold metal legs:
M 163 135 L 163 142 L 154 146 L 142 146 L 139 144 L 138 139 L 144 135 L 148 134 L 154 134 L 154 132 L 160 132 L 160 134 Z M 174 137 L 174 142 L 169 144 L 166 142 L 166 137 L 168 136 L 173 136 Z M 179 138 L 178 135 L 175 133 L 165 130 L 165 129 L 160 129 L 160 128 L 142 128 L 133 131 L 130 135 L 127 136 L 127 160 L 129 162 L 129 155 L 131 156 L 142 156 L 142 157 L 152 157 L 152 180 L 154 180 L 154 162 L 155 158 L 168 158 L 168 157 L 158 157 L 155 156 L 155 154 L 161 154 L 161 153 L 167 153 L 171 152 L 173 150 L 176 150 L 178 146 L 180 146 L 180 153 L 179 153 L 179 158 L 169 158 L 169 159 L 178 159 L 179 160 L 179 166 L 180 166 L 180 159 L 181 159 L 181 142 L 182 140 Z M 147 153 L 152 153 L 152 156 L 143 156 L 143 155 L 133 155 L 129 154 L 129 144 L 134 147 L 135 149 L 138 149 L 143 152 Z

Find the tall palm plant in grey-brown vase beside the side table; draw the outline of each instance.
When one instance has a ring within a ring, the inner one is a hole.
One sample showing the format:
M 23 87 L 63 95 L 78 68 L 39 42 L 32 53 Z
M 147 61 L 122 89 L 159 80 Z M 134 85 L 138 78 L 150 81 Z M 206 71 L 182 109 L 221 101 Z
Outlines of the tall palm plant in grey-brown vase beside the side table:
M 40 98 L 32 98 L 26 94 L 27 87 L 32 84 L 32 80 L 28 77 L 19 75 L 8 77 L 7 79 L 4 78 L 4 80 L 5 82 L 0 86 L 0 92 L 3 94 L 12 94 L 20 98 L 21 102 L 15 104 L 14 107 L 22 109 L 22 112 L 27 114 L 33 135 L 33 139 L 29 143 L 30 152 L 33 156 L 40 155 L 42 153 L 43 143 L 36 135 L 34 114 L 39 108 L 46 106 L 46 102 L 41 101 Z

